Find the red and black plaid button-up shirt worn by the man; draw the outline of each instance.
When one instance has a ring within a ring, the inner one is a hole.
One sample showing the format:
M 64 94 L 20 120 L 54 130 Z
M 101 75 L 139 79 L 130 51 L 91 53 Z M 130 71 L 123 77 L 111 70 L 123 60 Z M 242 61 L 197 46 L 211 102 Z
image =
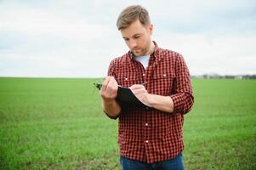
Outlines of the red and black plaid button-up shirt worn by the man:
M 173 113 L 147 107 L 122 107 L 117 116 L 120 154 L 147 163 L 178 156 L 184 149 L 183 115 L 191 110 L 194 102 L 190 74 L 183 57 L 156 45 L 145 69 L 129 51 L 111 61 L 108 75 L 115 77 L 123 87 L 147 82 L 145 88 L 149 94 L 171 96 L 174 101 Z

